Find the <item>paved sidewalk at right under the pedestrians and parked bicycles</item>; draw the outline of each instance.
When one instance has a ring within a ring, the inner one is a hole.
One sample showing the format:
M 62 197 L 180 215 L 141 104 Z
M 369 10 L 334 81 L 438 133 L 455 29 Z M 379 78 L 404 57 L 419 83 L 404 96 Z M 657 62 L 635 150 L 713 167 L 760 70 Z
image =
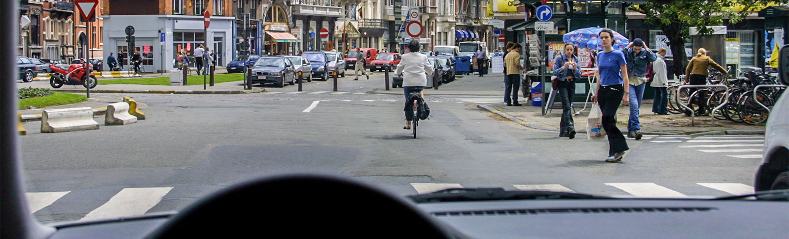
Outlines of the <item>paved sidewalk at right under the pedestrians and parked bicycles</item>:
M 527 104 L 528 103 L 528 104 Z M 559 121 L 562 116 L 560 103 L 555 103 L 550 114 L 541 116 L 540 107 L 531 106 L 531 101 L 522 102 L 522 106 L 506 106 L 502 103 L 481 104 L 478 108 L 494 112 L 508 120 L 520 123 L 525 127 L 539 130 L 559 132 Z M 583 108 L 583 102 L 575 103 L 575 111 Z M 574 116 L 575 130 L 585 133 L 586 116 L 589 116 L 589 103 L 586 109 L 581 112 L 581 116 Z M 617 126 L 623 134 L 627 134 L 627 120 L 630 117 L 628 106 L 620 106 L 616 111 Z M 681 115 L 654 115 L 652 112 L 652 100 L 644 100 L 639 110 L 641 121 L 641 132 L 644 134 L 765 134 L 764 125 L 749 125 L 746 123 L 734 123 L 729 120 L 715 120 L 714 125 L 710 116 L 697 116 L 695 125 L 691 125 L 690 116 Z M 558 135 L 558 134 L 557 134 Z

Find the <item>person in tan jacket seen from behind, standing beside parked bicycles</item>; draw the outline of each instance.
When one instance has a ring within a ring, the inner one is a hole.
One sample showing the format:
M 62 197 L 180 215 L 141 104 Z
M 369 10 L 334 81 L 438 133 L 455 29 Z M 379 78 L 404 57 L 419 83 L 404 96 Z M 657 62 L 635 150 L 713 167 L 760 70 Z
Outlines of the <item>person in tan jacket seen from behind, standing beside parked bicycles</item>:
M 688 62 L 688 67 L 685 68 L 685 83 L 690 83 L 691 85 L 706 85 L 707 76 L 709 75 L 709 73 L 707 73 L 707 68 L 710 66 L 719 72 L 724 72 L 724 75 L 728 74 L 726 68 L 720 66 L 720 64 L 717 64 L 715 61 L 712 61 L 712 58 L 707 57 L 707 50 L 704 48 L 699 48 L 696 57 L 690 59 L 690 62 Z M 696 92 L 696 90 L 697 88 L 690 88 L 690 94 L 693 94 Z M 706 114 L 707 108 L 707 95 L 705 91 L 701 91 L 696 99 L 696 103 L 699 106 L 697 116 L 703 116 Z M 687 116 L 690 116 L 691 113 L 692 112 L 685 112 Z

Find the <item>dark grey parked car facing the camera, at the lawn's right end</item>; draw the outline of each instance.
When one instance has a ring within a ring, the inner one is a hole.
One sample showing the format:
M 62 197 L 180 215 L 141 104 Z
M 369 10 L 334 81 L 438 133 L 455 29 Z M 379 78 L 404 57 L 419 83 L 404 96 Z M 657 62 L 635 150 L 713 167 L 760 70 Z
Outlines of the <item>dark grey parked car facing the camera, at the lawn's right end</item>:
M 260 57 L 252 65 L 252 83 L 273 83 L 277 87 L 296 83 L 294 64 L 285 57 Z

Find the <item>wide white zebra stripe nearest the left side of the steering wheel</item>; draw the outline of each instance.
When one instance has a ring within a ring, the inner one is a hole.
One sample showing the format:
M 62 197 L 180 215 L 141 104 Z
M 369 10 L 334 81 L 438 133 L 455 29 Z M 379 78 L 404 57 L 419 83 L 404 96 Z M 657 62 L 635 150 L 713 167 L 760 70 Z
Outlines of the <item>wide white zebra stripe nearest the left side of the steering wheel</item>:
M 85 215 L 80 221 L 144 215 L 162 200 L 173 187 L 122 189 L 99 208 Z

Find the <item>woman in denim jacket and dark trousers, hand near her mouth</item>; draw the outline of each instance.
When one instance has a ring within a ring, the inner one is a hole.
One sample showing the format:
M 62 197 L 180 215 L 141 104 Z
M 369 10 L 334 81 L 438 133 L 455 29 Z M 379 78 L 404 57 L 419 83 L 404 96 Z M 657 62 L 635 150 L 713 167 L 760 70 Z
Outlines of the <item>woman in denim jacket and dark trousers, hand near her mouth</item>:
M 564 54 L 554 60 L 553 75 L 559 80 L 559 96 L 562 97 L 562 120 L 559 122 L 559 137 L 575 138 L 572 104 L 575 96 L 575 81 L 581 79 L 575 46 L 564 43 Z

